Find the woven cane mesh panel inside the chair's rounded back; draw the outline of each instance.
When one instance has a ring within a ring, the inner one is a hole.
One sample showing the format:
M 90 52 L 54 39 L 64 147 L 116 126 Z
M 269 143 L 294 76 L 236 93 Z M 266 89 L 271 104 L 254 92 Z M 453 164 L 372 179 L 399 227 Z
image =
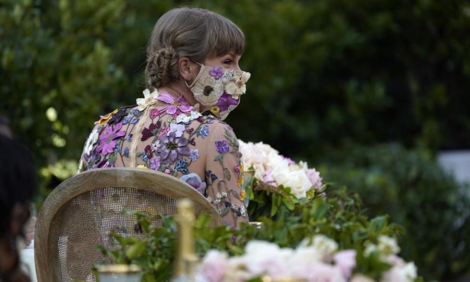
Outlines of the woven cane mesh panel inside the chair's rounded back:
M 172 215 L 172 198 L 133 188 L 100 188 L 71 199 L 55 217 L 58 226 L 59 268 L 63 282 L 94 281 L 91 269 L 103 259 L 95 245 L 112 248 L 111 230 L 141 237 L 134 231 L 136 217 L 123 209 L 150 215 Z

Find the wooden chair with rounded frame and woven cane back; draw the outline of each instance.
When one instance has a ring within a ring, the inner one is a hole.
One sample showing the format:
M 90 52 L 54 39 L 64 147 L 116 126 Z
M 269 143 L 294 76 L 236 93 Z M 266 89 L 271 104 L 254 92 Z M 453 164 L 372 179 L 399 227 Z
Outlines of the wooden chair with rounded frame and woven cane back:
M 34 238 L 38 282 L 94 281 L 92 266 L 103 259 L 95 245 L 111 246 L 108 234 L 118 228 L 141 236 L 134 231 L 135 216 L 122 215 L 122 209 L 171 215 L 181 198 L 194 202 L 196 217 L 211 214 L 212 225 L 222 224 L 203 195 L 167 174 L 110 168 L 65 180 L 47 197 L 38 215 Z

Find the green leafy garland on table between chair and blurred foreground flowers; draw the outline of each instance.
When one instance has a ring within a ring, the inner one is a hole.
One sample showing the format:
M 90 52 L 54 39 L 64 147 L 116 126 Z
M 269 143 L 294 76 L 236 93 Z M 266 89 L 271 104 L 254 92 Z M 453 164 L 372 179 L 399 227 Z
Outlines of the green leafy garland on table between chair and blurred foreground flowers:
M 358 196 L 348 195 L 344 188 L 328 193 L 328 197 L 298 201 L 293 210 L 281 203 L 275 219 L 258 218 L 263 222 L 261 229 L 249 224 L 242 224 L 238 229 L 230 226 L 214 228 L 210 227 L 210 216 L 201 215 L 194 223 L 195 251 L 200 257 L 211 249 L 241 255 L 244 245 L 251 239 L 275 242 L 281 247 L 296 247 L 305 238 L 324 234 L 336 240 L 340 249 L 355 249 L 362 254 L 365 242 L 375 242 L 379 235 L 396 237 L 403 233 L 398 225 L 389 224 L 387 217 L 372 220 L 365 217 Z M 128 237 L 125 230 L 121 230 L 110 234 L 116 243 L 114 248 L 97 246 L 97 249 L 114 262 L 140 265 L 144 273 L 143 282 L 166 281 L 171 277 L 171 262 L 176 251 L 177 233 L 173 217 L 148 217 L 142 212 L 124 212 L 138 217 L 136 230 L 141 230 L 147 239 Z M 155 222 L 159 226 L 154 225 Z M 357 270 L 378 278 L 389 267 L 375 254 L 361 257 Z

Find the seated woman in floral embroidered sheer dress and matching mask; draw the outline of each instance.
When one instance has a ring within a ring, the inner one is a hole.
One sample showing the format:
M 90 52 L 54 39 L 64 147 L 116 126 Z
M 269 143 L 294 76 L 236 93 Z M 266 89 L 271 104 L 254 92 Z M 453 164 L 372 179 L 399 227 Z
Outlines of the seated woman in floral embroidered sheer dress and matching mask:
M 147 47 L 152 90 L 97 122 L 80 170 L 138 167 L 171 174 L 205 195 L 227 224 L 248 221 L 238 142 L 222 121 L 250 78 L 238 66 L 244 41 L 233 22 L 211 11 L 165 13 Z

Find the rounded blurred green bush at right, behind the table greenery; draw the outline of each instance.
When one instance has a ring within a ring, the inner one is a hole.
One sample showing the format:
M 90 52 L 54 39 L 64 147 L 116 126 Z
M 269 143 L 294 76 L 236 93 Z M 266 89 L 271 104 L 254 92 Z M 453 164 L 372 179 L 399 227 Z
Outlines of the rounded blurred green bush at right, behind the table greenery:
M 346 150 L 321 169 L 324 178 L 359 193 L 367 214 L 387 213 L 403 226 L 401 254 L 426 279 L 456 277 L 470 268 L 468 185 L 456 183 L 422 151 L 397 144 Z

